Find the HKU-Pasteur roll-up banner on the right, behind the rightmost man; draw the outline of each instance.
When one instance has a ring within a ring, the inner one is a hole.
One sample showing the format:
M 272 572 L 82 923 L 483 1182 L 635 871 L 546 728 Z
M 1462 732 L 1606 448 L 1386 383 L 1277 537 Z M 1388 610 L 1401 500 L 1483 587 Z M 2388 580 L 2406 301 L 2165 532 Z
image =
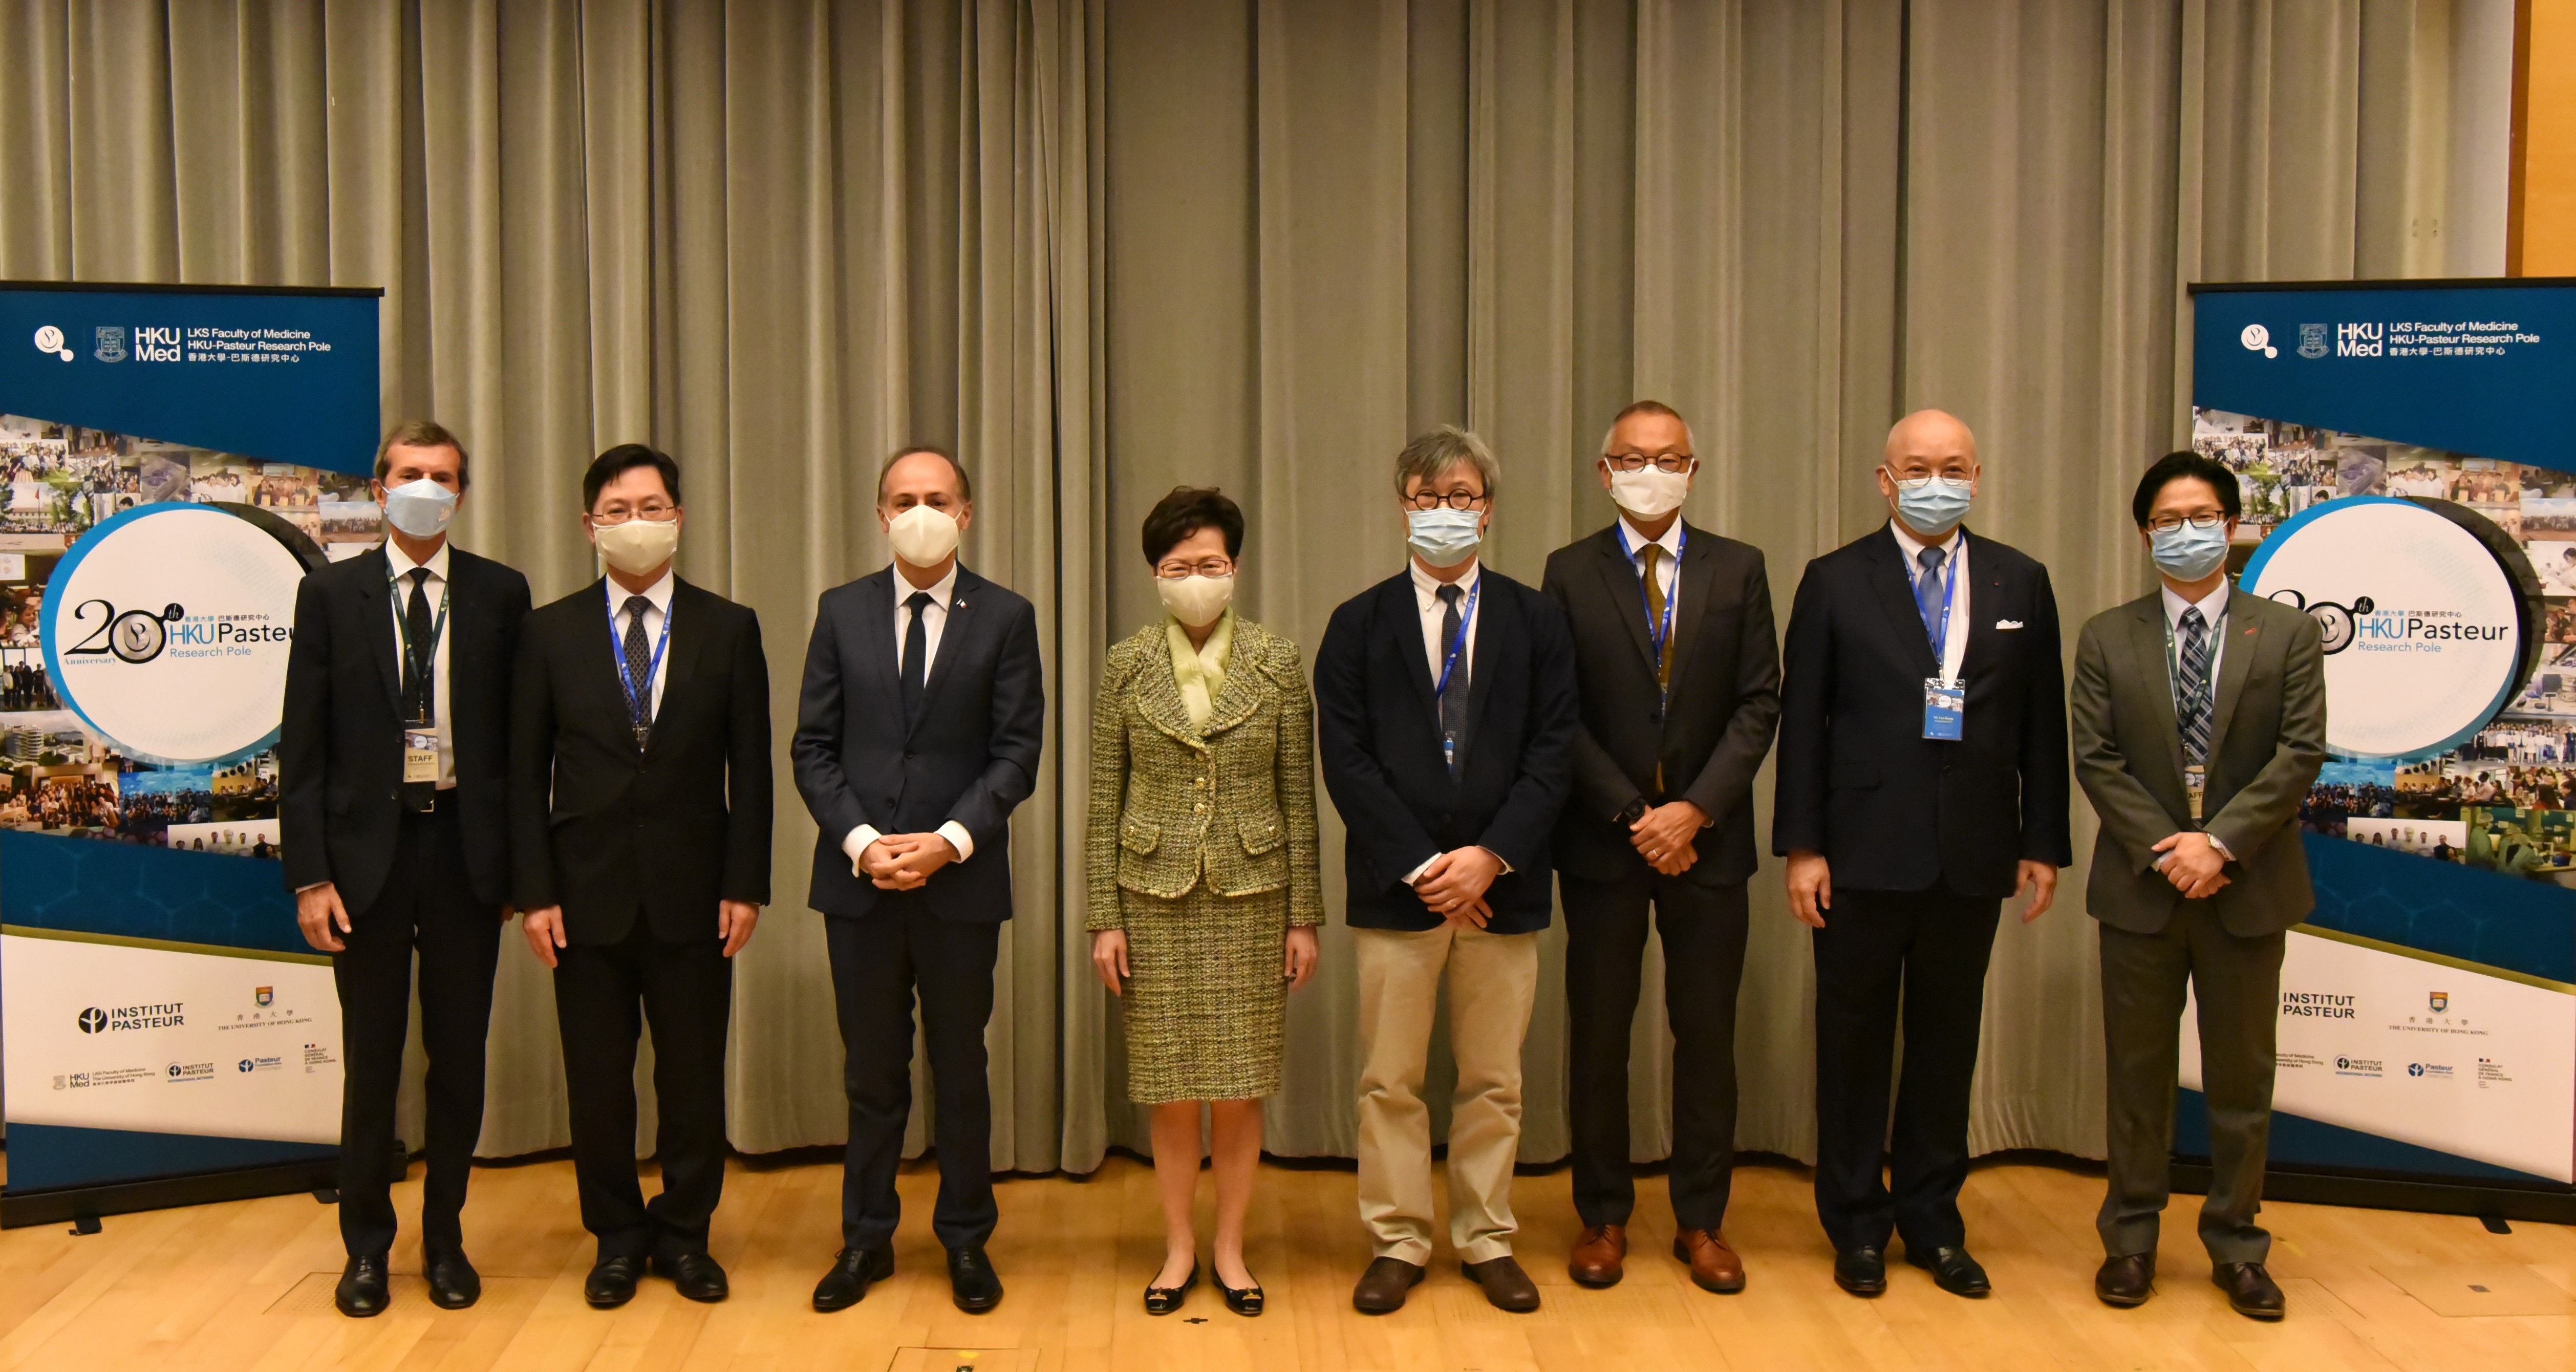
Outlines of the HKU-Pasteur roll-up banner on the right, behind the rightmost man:
M 2576 281 L 2192 304 L 2239 587 L 2326 649 L 2267 1192 L 2576 1220 Z M 2210 1151 L 2195 1019 L 2182 1187 Z

